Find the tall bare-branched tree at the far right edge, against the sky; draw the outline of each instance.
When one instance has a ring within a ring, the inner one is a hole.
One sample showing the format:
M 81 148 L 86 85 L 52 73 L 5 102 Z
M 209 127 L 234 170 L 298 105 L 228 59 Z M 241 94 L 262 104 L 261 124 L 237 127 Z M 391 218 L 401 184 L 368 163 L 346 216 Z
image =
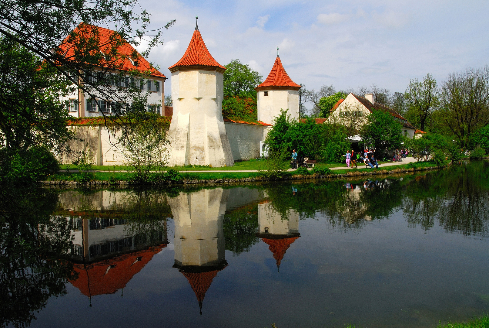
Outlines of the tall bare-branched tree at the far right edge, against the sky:
M 450 74 L 441 107 L 446 125 L 465 148 L 471 134 L 489 123 L 489 66 Z

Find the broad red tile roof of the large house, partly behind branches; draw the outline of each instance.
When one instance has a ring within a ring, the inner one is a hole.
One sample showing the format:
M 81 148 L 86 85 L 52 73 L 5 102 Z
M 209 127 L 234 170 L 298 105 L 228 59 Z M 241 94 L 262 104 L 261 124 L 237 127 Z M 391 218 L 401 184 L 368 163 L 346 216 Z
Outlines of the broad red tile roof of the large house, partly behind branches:
M 95 41 L 98 43 L 98 48 L 103 53 L 109 53 L 113 46 L 117 47 L 117 54 L 112 56 L 110 63 L 102 59 L 102 67 L 125 71 L 137 70 L 143 74 L 149 72 L 151 76 L 166 79 L 165 75 L 156 70 L 129 42 L 122 39 L 116 31 L 108 28 L 80 23 L 60 44 L 60 51 L 64 53 L 67 59 L 75 59 L 75 52 L 80 51 L 80 44 L 84 44 L 87 40 L 93 40 L 92 38 L 95 38 Z M 117 45 L 118 43 L 121 44 Z M 138 66 L 134 66 L 130 58 L 136 60 Z

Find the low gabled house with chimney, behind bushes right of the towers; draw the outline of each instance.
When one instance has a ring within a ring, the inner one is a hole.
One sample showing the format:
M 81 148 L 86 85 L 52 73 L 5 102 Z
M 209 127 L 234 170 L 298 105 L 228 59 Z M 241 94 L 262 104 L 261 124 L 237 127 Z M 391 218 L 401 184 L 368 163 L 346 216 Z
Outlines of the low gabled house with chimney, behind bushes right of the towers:
M 366 119 L 362 118 L 366 118 L 374 110 L 382 110 L 392 115 L 395 120 L 402 124 L 402 134 L 411 139 L 414 138 L 416 128 L 392 108 L 375 102 L 373 94 L 365 94 L 365 97 L 352 93 L 348 94 L 345 99 L 338 100 L 333 106 L 327 120 L 348 125 L 352 122 L 352 118 L 355 118 L 356 129 L 360 129 L 366 122 Z

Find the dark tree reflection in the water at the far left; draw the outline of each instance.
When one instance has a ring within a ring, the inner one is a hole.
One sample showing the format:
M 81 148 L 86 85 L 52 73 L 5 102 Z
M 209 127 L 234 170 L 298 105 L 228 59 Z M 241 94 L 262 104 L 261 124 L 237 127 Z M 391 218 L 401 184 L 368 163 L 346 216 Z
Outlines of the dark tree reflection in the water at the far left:
M 72 265 L 63 260 L 71 231 L 63 217 L 50 218 L 57 194 L 46 189 L 0 190 L 0 322 L 27 327 L 51 296 L 66 294 Z

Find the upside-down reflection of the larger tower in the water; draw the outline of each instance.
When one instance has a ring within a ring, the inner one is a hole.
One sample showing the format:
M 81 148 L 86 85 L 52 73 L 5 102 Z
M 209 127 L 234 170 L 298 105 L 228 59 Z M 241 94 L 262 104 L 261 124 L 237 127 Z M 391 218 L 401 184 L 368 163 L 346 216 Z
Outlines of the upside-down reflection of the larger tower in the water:
M 168 199 L 175 220 L 174 267 L 194 290 L 200 314 L 205 293 L 227 266 L 222 221 L 228 197 L 229 190 L 215 188 Z

